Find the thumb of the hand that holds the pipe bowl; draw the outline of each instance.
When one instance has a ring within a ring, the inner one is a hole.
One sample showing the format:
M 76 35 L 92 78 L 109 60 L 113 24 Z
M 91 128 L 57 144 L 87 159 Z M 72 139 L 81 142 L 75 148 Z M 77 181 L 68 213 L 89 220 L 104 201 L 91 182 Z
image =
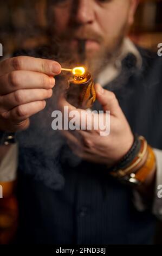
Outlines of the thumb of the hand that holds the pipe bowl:
M 103 89 L 99 83 L 95 84 L 96 98 L 101 103 L 104 111 L 111 111 L 112 115 L 121 114 L 121 108 L 114 93 Z

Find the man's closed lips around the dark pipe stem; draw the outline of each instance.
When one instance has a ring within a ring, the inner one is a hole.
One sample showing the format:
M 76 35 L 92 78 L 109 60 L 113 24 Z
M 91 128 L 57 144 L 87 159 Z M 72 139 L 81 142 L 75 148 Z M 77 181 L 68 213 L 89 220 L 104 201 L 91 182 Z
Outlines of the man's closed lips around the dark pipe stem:
M 81 41 L 85 41 L 85 50 L 99 50 L 100 44 L 98 41 L 93 39 L 73 39 L 72 40 L 72 47 L 79 47 Z

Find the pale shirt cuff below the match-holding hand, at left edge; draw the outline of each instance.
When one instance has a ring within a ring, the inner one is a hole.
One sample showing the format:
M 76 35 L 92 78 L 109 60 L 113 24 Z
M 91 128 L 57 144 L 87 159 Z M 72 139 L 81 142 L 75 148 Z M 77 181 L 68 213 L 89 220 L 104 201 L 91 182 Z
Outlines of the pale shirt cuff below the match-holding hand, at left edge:
M 0 182 L 16 180 L 18 166 L 18 144 L 12 144 L 0 165 Z

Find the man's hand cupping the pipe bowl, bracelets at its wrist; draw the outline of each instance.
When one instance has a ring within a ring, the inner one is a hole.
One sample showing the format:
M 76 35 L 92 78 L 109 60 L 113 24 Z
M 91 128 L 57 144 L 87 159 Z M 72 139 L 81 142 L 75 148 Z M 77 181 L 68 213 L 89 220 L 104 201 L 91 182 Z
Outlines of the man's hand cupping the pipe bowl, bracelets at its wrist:
M 100 136 L 99 130 L 64 130 L 63 135 L 67 138 L 70 148 L 82 159 L 112 166 L 132 147 L 133 134 L 114 93 L 103 89 L 99 84 L 95 85 L 95 90 L 103 111 L 111 113 L 110 134 Z M 68 106 L 69 111 L 77 110 L 79 113 L 83 111 L 76 109 L 62 97 L 61 111 L 64 106 Z

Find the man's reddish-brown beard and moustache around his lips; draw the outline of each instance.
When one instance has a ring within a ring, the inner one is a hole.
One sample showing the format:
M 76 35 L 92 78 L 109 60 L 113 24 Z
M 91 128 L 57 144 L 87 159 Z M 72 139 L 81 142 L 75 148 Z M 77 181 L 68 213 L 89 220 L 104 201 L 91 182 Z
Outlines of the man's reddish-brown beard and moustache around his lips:
M 51 36 L 50 41 L 55 50 L 57 48 L 57 60 L 62 66 L 69 68 L 80 65 L 86 66 L 87 70 L 95 78 L 106 65 L 113 63 L 121 53 L 121 46 L 126 31 L 127 24 L 125 23 L 118 35 L 105 41 L 102 36 L 92 31 L 81 31 L 81 29 L 78 29 L 76 32 L 68 31 L 57 37 L 57 33 L 55 33 L 54 37 Z M 77 38 L 81 44 L 85 39 L 95 40 L 100 44 L 100 50 L 86 51 L 84 46 L 82 47 L 82 51 L 80 51 L 80 47 L 70 48 L 70 40 L 73 38 Z

